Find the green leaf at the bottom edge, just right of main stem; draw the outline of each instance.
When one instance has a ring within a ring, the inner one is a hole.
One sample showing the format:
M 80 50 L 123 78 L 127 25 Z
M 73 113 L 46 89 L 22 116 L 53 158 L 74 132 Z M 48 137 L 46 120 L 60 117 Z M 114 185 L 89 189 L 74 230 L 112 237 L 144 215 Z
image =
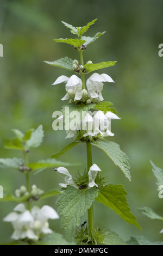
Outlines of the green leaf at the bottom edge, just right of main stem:
M 127 245 L 115 232 L 106 229 L 104 234 L 104 245 Z

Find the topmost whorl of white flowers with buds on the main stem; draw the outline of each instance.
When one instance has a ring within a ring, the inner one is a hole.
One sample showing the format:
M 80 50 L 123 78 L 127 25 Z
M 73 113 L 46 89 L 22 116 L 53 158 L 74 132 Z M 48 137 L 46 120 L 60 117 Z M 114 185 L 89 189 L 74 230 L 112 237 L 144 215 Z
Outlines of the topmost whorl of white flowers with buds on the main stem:
M 106 74 L 99 75 L 98 73 L 94 73 L 90 76 L 90 78 L 86 81 L 86 89 L 82 90 L 82 80 L 76 76 L 72 75 L 71 77 L 67 76 L 59 76 L 57 80 L 53 83 L 59 84 L 62 82 L 66 82 L 66 95 L 62 97 L 61 100 L 70 99 L 71 102 L 86 102 L 91 103 L 95 101 L 103 101 L 102 89 L 103 82 L 113 82 L 112 78 Z

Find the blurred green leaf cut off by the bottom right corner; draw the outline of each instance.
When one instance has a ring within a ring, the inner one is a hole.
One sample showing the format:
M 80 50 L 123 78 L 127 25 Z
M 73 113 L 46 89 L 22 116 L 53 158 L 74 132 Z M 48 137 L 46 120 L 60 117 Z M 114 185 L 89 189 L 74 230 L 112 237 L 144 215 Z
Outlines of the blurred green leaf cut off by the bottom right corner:
M 131 236 L 131 239 L 127 242 L 127 245 L 163 245 L 163 242 L 149 242 L 143 236 Z

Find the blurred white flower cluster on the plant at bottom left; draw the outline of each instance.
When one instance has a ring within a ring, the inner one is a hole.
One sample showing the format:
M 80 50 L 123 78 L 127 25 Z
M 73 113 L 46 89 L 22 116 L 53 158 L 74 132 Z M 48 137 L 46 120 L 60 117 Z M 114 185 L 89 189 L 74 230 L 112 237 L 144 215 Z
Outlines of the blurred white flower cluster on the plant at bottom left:
M 48 205 L 44 205 L 41 209 L 34 206 L 31 211 L 26 210 L 24 204 L 18 204 L 14 208 L 14 212 L 8 214 L 3 221 L 11 222 L 14 233 L 11 238 L 14 240 L 31 239 L 39 240 L 40 235 L 51 234 L 53 231 L 49 229 L 48 219 L 59 218 L 57 212 Z

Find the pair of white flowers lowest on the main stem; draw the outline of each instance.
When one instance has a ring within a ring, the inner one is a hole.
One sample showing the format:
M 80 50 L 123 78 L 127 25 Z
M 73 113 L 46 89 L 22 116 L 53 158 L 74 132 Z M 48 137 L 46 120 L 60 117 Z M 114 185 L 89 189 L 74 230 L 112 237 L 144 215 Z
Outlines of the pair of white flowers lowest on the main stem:
M 59 186 L 62 188 L 66 188 L 68 185 L 75 187 L 78 189 L 78 186 L 74 183 L 72 179 L 72 175 L 68 172 L 68 170 L 65 167 L 59 167 L 56 169 L 58 173 L 65 174 L 65 183 L 60 183 Z M 94 163 L 88 172 L 88 178 L 89 178 L 89 184 L 88 188 L 91 187 L 98 187 L 98 185 L 95 183 L 95 179 L 97 177 L 98 172 L 101 172 L 101 169 L 97 166 L 96 163 Z

